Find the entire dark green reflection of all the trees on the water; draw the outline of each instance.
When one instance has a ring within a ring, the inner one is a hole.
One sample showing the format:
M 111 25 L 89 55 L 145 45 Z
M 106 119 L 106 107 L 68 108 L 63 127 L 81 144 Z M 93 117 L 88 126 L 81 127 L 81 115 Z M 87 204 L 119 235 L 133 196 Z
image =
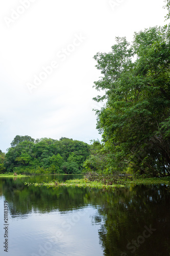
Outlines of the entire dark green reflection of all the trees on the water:
M 27 218 L 32 211 L 44 214 L 57 210 L 62 214 L 92 205 L 98 209 L 92 216 L 92 225 L 99 227 L 104 255 L 169 255 L 170 197 L 166 185 L 101 190 L 28 187 L 24 182 L 24 179 L 2 179 L 0 182 L 0 192 L 3 190 L 9 202 L 12 218 Z M 151 226 L 156 231 L 140 244 L 135 241 L 142 236 L 144 226 Z

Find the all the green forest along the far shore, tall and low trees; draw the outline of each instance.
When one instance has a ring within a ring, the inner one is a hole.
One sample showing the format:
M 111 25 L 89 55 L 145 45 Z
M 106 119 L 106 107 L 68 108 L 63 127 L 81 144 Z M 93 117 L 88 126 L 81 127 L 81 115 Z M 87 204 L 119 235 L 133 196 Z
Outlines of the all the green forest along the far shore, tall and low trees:
M 170 2 L 165 1 L 168 21 Z M 170 176 L 170 25 L 116 37 L 108 53 L 96 53 L 101 77 L 94 82 L 105 102 L 94 110 L 102 142 L 17 135 L 0 152 L 0 173 Z

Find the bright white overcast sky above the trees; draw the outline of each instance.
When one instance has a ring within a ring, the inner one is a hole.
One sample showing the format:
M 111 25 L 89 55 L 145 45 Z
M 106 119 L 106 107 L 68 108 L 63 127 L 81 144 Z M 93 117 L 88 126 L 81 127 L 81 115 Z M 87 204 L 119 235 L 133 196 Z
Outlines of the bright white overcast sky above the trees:
M 115 6 L 109 0 L 0 2 L 3 152 L 16 135 L 87 143 L 101 139 L 92 111 L 99 106 L 92 100 L 99 92 L 92 86 L 100 77 L 93 56 L 109 52 L 115 36 L 131 41 L 135 31 L 163 26 L 166 14 L 163 0 L 113 2 Z M 57 68 L 44 77 L 42 67 L 52 63 Z M 35 86 L 39 75 L 45 79 Z M 35 88 L 29 90 L 28 83 Z

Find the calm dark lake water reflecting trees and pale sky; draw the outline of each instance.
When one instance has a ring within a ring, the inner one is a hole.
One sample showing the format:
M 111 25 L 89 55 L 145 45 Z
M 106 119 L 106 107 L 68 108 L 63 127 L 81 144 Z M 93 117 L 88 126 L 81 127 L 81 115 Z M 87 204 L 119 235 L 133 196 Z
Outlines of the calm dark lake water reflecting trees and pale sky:
M 104 191 L 24 185 L 25 181 L 53 179 L 0 178 L 0 255 L 170 255 L 168 186 Z M 9 205 L 8 252 L 3 248 L 5 200 Z

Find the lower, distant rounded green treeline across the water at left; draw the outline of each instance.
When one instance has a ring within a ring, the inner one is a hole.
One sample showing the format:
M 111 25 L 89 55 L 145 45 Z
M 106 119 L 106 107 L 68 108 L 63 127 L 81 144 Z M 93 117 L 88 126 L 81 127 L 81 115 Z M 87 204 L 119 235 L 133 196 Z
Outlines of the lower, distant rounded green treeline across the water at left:
M 8 152 L 0 152 L 0 173 L 81 174 L 89 149 L 87 143 L 63 137 L 35 140 L 17 135 Z

